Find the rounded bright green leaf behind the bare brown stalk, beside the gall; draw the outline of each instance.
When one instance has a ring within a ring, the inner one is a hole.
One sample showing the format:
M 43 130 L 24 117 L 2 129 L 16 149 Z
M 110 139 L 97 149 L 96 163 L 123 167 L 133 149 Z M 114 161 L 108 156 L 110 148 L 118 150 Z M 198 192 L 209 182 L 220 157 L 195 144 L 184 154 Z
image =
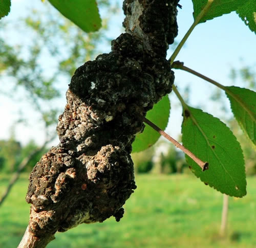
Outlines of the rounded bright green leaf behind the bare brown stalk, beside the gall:
M 168 124 L 169 113 L 170 101 L 168 96 L 165 96 L 147 112 L 146 118 L 164 130 Z M 133 152 L 143 151 L 151 147 L 158 141 L 160 136 L 160 133 L 145 124 L 144 131 L 136 136 L 133 143 Z

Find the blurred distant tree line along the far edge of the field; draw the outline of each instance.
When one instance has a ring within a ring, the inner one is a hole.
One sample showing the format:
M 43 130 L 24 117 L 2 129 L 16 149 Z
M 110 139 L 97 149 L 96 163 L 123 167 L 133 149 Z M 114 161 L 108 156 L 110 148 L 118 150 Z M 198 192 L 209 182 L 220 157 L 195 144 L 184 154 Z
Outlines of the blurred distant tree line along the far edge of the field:
M 238 132 L 236 135 L 243 146 L 246 174 L 256 175 L 255 151 L 253 147 L 251 147 L 246 137 L 238 128 L 237 123 L 234 120 L 231 120 L 229 123 L 234 132 Z M 0 172 L 15 172 L 20 162 L 22 162 L 31 151 L 38 147 L 39 146 L 33 140 L 23 146 L 20 142 L 15 140 L 14 135 L 11 135 L 8 140 L 0 140 Z M 24 171 L 30 172 L 47 149 L 48 148 L 45 148 L 36 153 L 29 161 Z M 145 151 L 133 153 L 132 157 L 136 173 L 171 174 L 189 172 L 189 167 L 185 162 L 183 153 L 177 150 L 172 144 L 162 140 Z

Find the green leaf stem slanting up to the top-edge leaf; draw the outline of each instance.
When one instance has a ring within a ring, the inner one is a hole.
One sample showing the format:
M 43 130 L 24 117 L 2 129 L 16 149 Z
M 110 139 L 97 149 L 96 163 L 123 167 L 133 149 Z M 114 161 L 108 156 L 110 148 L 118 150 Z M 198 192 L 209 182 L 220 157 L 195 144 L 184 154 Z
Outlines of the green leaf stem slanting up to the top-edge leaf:
M 199 21 L 204 17 L 204 15 L 208 12 L 211 4 L 214 3 L 214 0 L 208 0 L 207 4 L 204 6 L 204 8 L 201 10 L 201 12 L 199 13 L 199 15 L 196 17 L 196 19 L 194 20 L 193 24 L 191 25 L 191 27 L 188 29 L 188 31 L 186 32 L 186 34 L 184 35 L 184 37 L 182 38 L 182 40 L 180 41 L 180 43 L 178 44 L 178 47 L 175 49 L 173 55 L 169 58 L 170 64 L 172 65 L 175 58 L 177 57 L 177 55 L 179 54 L 181 48 L 183 47 L 184 43 L 186 42 L 187 38 L 189 37 L 189 35 L 191 34 L 191 32 L 194 30 L 194 28 L 198 25 Z

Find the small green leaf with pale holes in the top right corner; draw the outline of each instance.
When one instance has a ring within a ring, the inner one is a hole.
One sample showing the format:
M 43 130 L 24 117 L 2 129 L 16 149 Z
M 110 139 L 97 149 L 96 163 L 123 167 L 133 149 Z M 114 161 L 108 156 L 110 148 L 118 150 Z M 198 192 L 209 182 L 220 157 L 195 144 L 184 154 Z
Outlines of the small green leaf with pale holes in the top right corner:
M 241 1 L 242 2 L 242 1 Z M 237 10 L 238 15 L 245 22 L 245 25 L 256 34 L 256 2 L 255 0 L 245 1 Z

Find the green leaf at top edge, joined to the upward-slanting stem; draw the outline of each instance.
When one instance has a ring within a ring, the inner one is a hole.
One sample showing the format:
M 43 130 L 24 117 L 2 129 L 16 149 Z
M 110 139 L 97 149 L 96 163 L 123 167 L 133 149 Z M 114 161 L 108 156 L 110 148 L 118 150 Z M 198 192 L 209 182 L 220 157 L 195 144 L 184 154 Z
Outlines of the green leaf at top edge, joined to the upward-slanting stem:
M 248 1 L 248 0 L 245 0 Z M 215 17 L 228 14 L 232 11 L 237 10 L 239 7 L 241 7 L 244 2 L 244 0 L 221 0 L 217 1 L 215 0 L 212 5 L 210 6 L 208 12 L 201 18 L 199 23 L 204 22 L 206 20 L 213 19 Z M 254 0 L 253 0 L 254 1 Z M 194 19 L 199 15 L 201 10 L 204 8 L 208 0 L 192 0 L 193 7 L 194 7 Z

